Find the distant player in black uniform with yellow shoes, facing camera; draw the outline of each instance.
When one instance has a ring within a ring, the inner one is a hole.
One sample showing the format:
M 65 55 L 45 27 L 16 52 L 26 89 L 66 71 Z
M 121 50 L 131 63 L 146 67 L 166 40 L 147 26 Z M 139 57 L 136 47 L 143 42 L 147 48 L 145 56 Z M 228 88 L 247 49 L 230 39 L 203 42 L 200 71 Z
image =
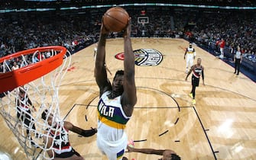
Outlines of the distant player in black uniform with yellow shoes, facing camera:
M 196 65 L 191 67 L 190 72 L 187 73 L 186 79 L 185 79 L 185 80 L 187 80 L 190 73 L 193 72 L 193 75 L 192 75 L 192 90 L 190 91 L 190 97 L 193 98 L 193 101 L 192 101 L 193 104 L 196 104 L 196 99 L 195 99 L 195 97 L 196 97 L 196 87 L 199 86 L 200 75 L 202 75 L 203 85 L 205 85 L 204 74 L 203 74 L 203 66 L 201 65 L 201 62 L 202 62 L 202 59 L 198 58 Z

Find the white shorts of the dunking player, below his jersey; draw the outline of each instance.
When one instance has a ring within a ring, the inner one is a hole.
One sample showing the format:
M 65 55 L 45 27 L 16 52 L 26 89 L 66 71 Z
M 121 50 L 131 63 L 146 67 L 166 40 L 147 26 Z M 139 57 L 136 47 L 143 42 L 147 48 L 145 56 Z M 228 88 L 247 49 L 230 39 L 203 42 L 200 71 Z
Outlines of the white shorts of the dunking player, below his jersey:
M 109 160 L 122 160 L 127 147 L 128 138 L 126 133 L 118 141 L 106 141 L 103 136 L 97 133 L 97 146 L 99 150 L 107 155 Z

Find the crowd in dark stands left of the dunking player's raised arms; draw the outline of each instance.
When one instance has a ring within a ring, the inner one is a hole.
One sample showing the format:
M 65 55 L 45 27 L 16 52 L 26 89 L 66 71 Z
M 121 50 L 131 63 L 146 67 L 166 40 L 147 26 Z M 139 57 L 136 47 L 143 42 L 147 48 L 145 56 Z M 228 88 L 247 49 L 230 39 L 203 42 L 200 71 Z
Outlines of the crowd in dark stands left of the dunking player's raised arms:
M 0 14 L 1 16 L 1 14 Z M 96 41 L 89 16 L 83 21 L 79 16 L 59 14 L 5 14 L 0 18 L 0 56 L 39 46 L 60 45 L 75 50 L 80 43 Z

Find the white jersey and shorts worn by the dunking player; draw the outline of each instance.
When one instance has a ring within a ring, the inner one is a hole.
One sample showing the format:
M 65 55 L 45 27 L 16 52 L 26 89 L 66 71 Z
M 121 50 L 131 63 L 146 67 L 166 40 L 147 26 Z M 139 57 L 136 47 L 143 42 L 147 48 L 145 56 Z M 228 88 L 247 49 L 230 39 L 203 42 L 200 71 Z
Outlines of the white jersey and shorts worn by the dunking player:
M 121 96 L 109 99 L 106 91 L 98 104 L 97 146 L 109 160 L 119 160 L 125 154 L 128 138 L 125 126 L 130 117 L 122 109 Z

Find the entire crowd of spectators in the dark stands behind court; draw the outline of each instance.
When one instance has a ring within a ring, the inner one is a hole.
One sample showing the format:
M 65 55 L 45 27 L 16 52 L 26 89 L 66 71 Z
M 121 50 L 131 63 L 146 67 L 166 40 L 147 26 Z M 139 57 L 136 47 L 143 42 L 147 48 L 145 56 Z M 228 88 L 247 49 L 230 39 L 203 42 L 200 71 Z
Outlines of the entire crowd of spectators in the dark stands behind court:
M 102 14 L 107 8 L 86 11 L 44 11 L 0 14 L 0 57 L 39 46 L 66 46 L 76 52 L 99 38 Z M 239 46 L 251 59 L 256 53 L 255 11 L 210 11 L 195 8 L 125 8 L 132 18 L 132 37 L 189 37 L 195 43 L 216 47 L 221 38 L 231 53 Z M 148 24 L 138 23 L 147 16 Z M 119 37 L 113 33 L 110 37 Z

